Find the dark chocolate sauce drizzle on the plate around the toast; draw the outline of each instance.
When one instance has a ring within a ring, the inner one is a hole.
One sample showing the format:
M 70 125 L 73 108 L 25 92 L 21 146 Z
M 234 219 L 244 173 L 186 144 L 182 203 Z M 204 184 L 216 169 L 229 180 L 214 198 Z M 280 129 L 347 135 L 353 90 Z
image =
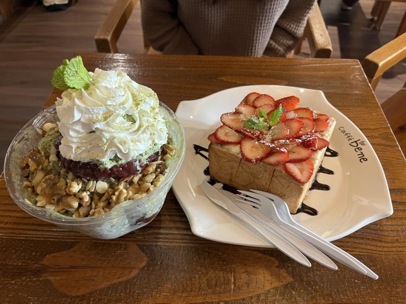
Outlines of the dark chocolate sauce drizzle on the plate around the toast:
M 201 151 L 208 152 L 209 150 L 207 148 L 202 147 L 202 146 L 197 145 L 197 144 L 193 144 L 193 149 L 194 149 L 194 154 L 198 154 L 202 158 L 204 158 L 206 160 L 209 160 L 209 158 L 206 155 L 201 153 Z M 334 150 L 330 149 L 329 147 L 327 147 L 324 156 L 326 156 L 326 157 L 337 157 L 337 156 L 339 156 L 339 154 L 336 151 L 334 151 Z M 205 175 L 207 175 L 207 176 L 210 176 L 209 166 L 203 171 L 203 173 Z M 334 171 L 332 171 L 330 169 L 327 169 L 327 168 L 324 168 L 322 165 L 320 165 L 319 169 L 317 170 L 316 177 L 315 177 L 309 191 L 310 190 L 323 190 L 323 191 L 330 190 L 329 185 L 322 184 L 322 183 L 317 181 L 317 176 L 319 175 L 319 173 L 332 175 L 332 174 L 334 174 Z M 211 184 L 212 186 L 215 185 L 216 183 L 219 183 L 219 181 L 217 179 L 215 179 L 215 178 L 210 178 L 207 182 L 209 184 Z M 221 188 L 223 190 L 225 190 L 225 191 L 228 191 L 228 192 L 231 192 L 231 193 L 234 193 L 234 194 L 238 193 L 236 188 L 234 188 L 234 187 L 232 187 L 230 185 L 224 184 L 224 183 L 223 183 L 223 186 Z M 299 212 L 303 212 L 303 213 L 306 213 L 306 214 L 309 214 L 309 215 L 312 215 L 312 216 L 315 216 L 315 215 L 319 214 L 319 212 L 316 209 L 314 209 L 313 207 L 310 207 L 310 206 L 308 206 L 308 205 L 306 205 L 304 203 L 301 203 L 299 209 L 297 209 L 295 214 L 297 214 Z

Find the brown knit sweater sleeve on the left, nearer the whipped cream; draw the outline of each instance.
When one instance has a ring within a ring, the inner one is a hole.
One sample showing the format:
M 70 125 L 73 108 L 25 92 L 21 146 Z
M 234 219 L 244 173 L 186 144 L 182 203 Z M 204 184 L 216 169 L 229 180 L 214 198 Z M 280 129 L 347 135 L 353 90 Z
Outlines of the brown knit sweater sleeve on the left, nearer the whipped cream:
M 196 45 L 177 17 L 176 3 L 173 0 L 143 0 L 144 35 L 155 50 L 164 54 L 197 55 Z

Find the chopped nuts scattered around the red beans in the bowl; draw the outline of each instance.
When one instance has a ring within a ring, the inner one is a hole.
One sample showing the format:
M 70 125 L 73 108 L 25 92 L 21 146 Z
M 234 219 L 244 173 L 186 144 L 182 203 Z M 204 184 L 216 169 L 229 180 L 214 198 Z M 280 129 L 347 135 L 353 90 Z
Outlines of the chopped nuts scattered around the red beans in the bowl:
M 55 124 L 44 124 L 42 135 L 54 128 L 57 128 Z M 55 146 L 52 144 L 47 149 L 45 157 L 40 148 L 32 148 L 18 164 L 22 176 L 27 178 L 23 182 L 28 194 L 26 202 L 75 218 L 103 216 L 126 200 L 142 199 L 155 191 L 165 179 L 165 161 L 176 151 L 171 145 L 163 145 L 158 161 L 133 176 L 88 180 L 63 172 Z

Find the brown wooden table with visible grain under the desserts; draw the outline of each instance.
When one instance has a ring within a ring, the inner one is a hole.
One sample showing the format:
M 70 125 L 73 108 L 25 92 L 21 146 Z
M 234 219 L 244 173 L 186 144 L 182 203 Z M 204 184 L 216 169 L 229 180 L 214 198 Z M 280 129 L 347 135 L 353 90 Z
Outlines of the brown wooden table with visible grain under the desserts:
M 275 249 L 196 237 L 172 192 L 149 225 L 115 240 L 91 239 L 26 214 L 2 177 L 0 302 L 406 301 L 406 163 L 357 60 L 81 55 L 89 70 L 125 71 L 173 110 L 181 100 L 246 84 L 322 90 L 366 135 L 386 173 L 394 214 L 334 242 L 380 278 L 340 264 L 337 272 L 317 263 L 308 269 Z

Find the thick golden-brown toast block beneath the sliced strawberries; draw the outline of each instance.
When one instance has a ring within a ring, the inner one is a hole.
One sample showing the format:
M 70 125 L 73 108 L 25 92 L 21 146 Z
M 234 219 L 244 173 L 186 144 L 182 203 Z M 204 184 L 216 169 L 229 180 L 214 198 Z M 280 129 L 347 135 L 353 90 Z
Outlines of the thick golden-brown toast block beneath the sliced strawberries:
M 328 128 L 320 133 L 320 136 L 329 140 L 334 126 L 335 120 L 330 118 Z M 273 193 L 285 200 L 291 213 L 296 213 L 312 186 L 326 148 L 314 151 L 310 158 L 314 164 L 313 175 L 307 183 L 300 183 L 290 177 L 283 166 L 246 162 L 241 157 L 239 145 L 211 142 L 209 145 L 210 176 L 240 190 L 256 189 Z

